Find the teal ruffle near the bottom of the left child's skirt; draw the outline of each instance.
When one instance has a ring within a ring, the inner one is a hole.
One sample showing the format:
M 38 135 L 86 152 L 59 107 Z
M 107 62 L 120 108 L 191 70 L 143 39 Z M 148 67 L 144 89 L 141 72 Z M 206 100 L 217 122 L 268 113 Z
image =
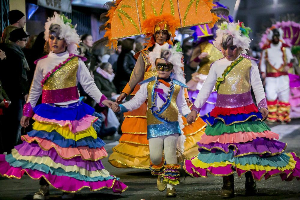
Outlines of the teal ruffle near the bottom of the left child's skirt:
M 49 167 L 45 164 L 38 164 L 38 163 L 31 163 L 27 160 L 16 160 L 12 154 L 6 155 L 5 160 L 7 163 L 10 164 L 10 166 L 13 167 L 22 167 L 22 169 L 32 169 L 32 170 L 38 170 L 41 172 L 45 172 L 47 174 L 52 174 L 52 175 L 57 175 L 57 176 L 68 176 L 72 178 L 76 178 L 77 180 L 81 181 L 107 181 L 110 179 L 117 179 L 119 178 L 114 178 L 113 176 L 108 176 L 108 177 L 102 177 L 102 176 L 95 176 L 95 177 L 88 177 L 85 175 L 79 174 L 79 172 L 66 172 L 61 168 L 53 168 Z

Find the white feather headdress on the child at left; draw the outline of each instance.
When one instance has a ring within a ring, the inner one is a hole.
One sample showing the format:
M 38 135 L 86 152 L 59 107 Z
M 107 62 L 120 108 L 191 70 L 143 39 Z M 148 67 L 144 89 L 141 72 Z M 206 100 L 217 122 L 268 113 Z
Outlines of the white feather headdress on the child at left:
M 73 27 L 71 24 L 71 20 L 63 15 L 59 15 L 58 13 L 54 12 L 53 17 L 49 17 L 47 22 L 45 23 L 45 40 L 49 41 L 49 28 L 51 24 L 58 24 L 61 27 L 61 32 L 59 37 L 64 38 L 68 47 L 67 51 L 69 53 L 77 54 L 77 44 L 80 42 L 79 35 L 76 33 L 76 25 Z

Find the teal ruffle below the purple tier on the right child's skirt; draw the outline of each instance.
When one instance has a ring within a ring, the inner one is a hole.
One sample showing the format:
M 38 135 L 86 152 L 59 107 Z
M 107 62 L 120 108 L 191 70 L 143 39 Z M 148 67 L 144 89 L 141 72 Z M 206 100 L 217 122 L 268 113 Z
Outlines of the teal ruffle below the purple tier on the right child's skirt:
M 229 153 L 226 154 L 223 151 L 217 150 L 212 153 L 210 151 L 201 150 L 198 154 L 198 160 L 201 160 L 203 163 L 220 163 L 220 162 L 235 162 L 236 164 L 246 165 L 263 165 L 263 166 L 272 166 L 272 167 L 285 167 L 289 163 L 290 157 L 287 156 L 284 152 L 279 155 L 271 157 L 262 157 L 256 154 L 250 154 L 241 157 L 234 157 L 234 152 L 230 149 Z

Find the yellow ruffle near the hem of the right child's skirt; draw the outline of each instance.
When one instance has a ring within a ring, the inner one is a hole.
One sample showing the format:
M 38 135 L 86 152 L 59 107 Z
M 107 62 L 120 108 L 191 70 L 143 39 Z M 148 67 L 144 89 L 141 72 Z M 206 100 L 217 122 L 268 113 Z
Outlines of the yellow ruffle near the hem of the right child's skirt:
M 239 163 L 235 164 L 234 162 L 229 162 L 229 161 L 226 161 L 226 162 L 214 162 L 214 163 L 204 163 L 200 160 L 198 160 L 197 158 L 194 158 L 192 160 L 192 164 L 195 166 L 195 167 L 200 167 L 202 169 L 206 169 L 208 167 L 224 167 L 224 166 L 227 166 L 227 165 L 232 165 L 232 166 L 235 166 L 237 167 L 238 169 L 242 169 L 242 170 L 250 170 L 250 169 L 253 169 L 255 171 L 262 171 L 262 170 L 265 170 L 265 171 L 271 171 L 272 169 L 278 169 L 280 171 L 284 171 L 284 170 L 292 170 L 295 168 L 295 165 L 296 165 L 296 161 L 293 159 L 292 157 L 292 154 L 288 153 L 286 154 L 287 156 L 290 157 L 289 159 L 289 163 L 287 166 L 285 167 L 273 167 L 273 166 L 262 166 L 262 165 L 254 165 L 254 164 L 246 164 L 246 165 L 241 165 Z

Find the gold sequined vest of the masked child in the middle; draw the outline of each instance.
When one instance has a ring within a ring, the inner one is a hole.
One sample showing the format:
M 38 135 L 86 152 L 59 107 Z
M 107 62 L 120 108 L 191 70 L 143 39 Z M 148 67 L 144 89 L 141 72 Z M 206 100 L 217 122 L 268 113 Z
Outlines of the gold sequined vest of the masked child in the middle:
M 152 106 L 152 102 L 151 102 L 152 90 L 154 90 L 155 82 L 156 82 L 156 80 L 151 81 L 147 85 L 148 99 L 149 100 L 148 100 L 148 109 L 147 109 L 147 114 L 146 115 L 147 115 L 147 124 L 148 125 L 150 125 L 150 124 L 162 124 L 163 123 L 161 120 L 158 120 L 152 114 L 151 110 L 149 109 Z M 173 88 L 174 92 L 172 94 L 170 104 L 167 107 L 167 109 L 165 109 L 165 111 L 162 112 L 161 115 L 159 115 L 159 117 L 164 118 L 169 122 L 178 121 L 178 113 L 179 113 L 178 107 L 177 107 L 177 104 L 176 104 L 176 99 L 177 99 L 178 93 L 180 91 L 180 86 L 176 85 L 176 84 L 173 84 L 173 86 L 174 86 L 174 88 Z M 172 85 L 170 86 L 170 88 L 172 88 Z M 155 95 L 154 98 L 158 98 L 158 96 Z

